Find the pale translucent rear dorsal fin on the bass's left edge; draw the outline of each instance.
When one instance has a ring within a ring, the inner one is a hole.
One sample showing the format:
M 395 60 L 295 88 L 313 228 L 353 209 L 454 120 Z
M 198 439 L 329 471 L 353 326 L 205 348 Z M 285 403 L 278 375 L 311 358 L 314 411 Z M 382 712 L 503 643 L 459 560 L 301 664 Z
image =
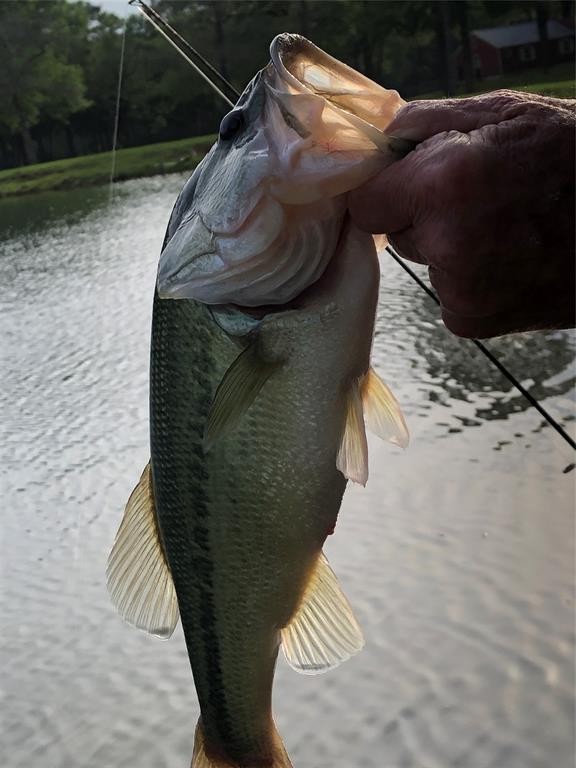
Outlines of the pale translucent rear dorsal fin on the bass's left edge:
M 106 576 L 123 619 L 152 635 L 170 637 L 178 623 L 178 601 L 160 540 L 150 462 L 126 504 Z

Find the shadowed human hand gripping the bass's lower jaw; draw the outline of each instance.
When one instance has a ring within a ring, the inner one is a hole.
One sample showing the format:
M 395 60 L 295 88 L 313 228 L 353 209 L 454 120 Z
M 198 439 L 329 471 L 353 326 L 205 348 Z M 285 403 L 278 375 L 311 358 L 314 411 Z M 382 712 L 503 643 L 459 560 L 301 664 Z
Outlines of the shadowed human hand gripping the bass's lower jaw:
M 415 101 L 386 133 L 422 143 L 351 192 L 350 213 L 428 265 L 448 329 L 572 327 L 576 102 L 513 91 Z

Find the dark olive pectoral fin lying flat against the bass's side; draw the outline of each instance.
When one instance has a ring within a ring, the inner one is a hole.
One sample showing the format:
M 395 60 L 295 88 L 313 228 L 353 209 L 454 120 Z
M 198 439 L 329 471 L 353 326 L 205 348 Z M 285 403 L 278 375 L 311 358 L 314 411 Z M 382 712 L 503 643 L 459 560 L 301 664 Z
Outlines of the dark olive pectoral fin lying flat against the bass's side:
M 258 392 L 280 363 L 269 363 L 259 356 L 256 345 L 246 347 L 234 360 L 218 385 L 204 430 L 204 448 L 208 451 L 229 434 L 242 414 L 254 402 Z

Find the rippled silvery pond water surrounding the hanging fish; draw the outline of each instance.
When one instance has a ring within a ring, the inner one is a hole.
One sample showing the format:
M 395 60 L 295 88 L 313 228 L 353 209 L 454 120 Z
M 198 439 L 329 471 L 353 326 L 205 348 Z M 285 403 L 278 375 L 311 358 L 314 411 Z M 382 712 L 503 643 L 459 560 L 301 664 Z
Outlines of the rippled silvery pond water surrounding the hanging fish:
M 181 630 L 123 624 L 104 570 L 148 457 L 155 269 L 183 177 L 0 204 L 5 768 L 187 768 Z M 405 452 L 370 442 L 327 552 L 366 636 L 323 676 L 281 660 L 295 768 L 570 768 L 569 447 L 389 258 L 374 345 Z M 489 343 L 574 433 L 572 332 Z

